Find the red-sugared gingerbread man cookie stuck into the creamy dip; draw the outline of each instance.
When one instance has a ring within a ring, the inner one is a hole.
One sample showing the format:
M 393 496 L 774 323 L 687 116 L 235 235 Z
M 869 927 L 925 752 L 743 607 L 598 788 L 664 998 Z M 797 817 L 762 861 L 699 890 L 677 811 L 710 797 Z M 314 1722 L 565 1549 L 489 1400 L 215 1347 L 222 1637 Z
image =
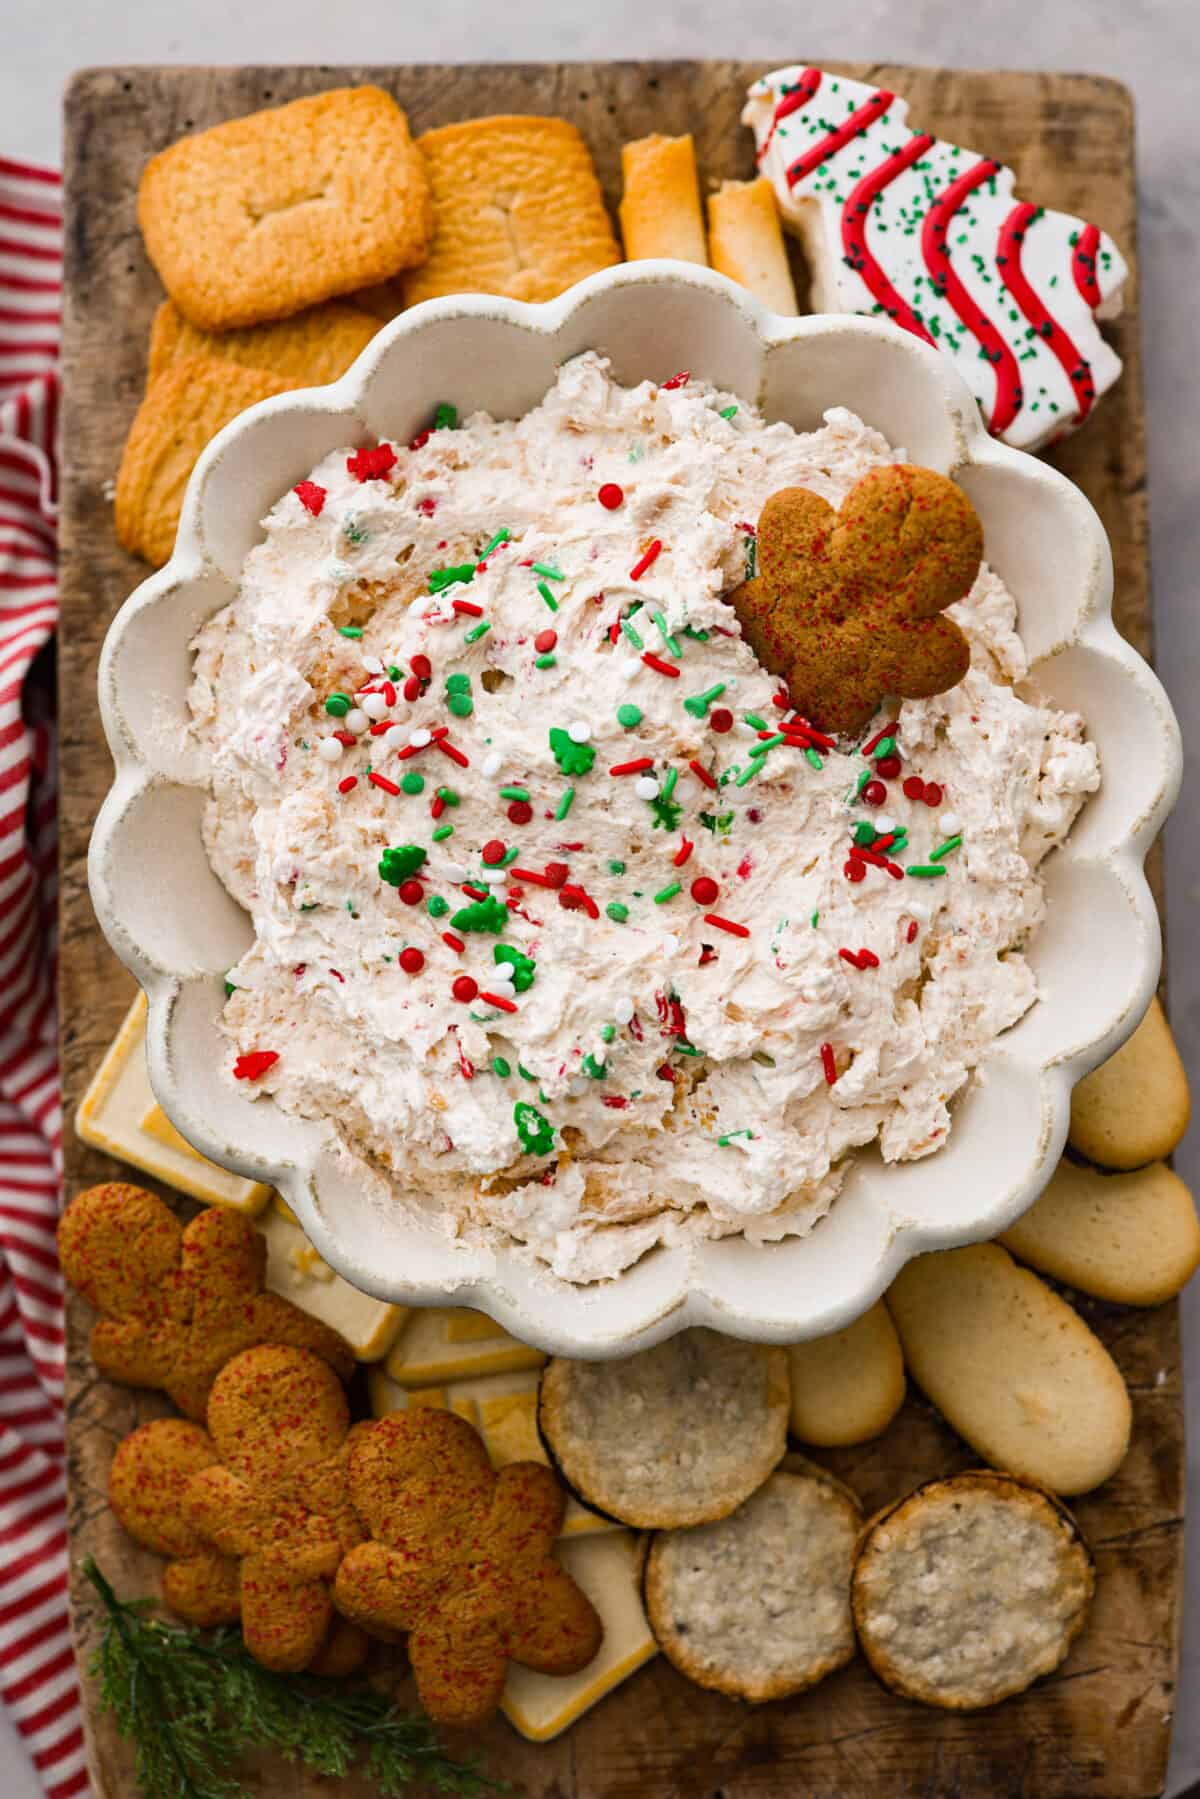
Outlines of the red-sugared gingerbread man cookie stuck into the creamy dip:
M 797 712 L 853 732 L 885 694 L 923 700 L 963 680 L 968 642 L 943 612 L 970 592 L 982 549 L 963 489 L 896 462 L 855 482 L 840 511 L 808 488 L 772 493 L 757 574 L 729 603 Z

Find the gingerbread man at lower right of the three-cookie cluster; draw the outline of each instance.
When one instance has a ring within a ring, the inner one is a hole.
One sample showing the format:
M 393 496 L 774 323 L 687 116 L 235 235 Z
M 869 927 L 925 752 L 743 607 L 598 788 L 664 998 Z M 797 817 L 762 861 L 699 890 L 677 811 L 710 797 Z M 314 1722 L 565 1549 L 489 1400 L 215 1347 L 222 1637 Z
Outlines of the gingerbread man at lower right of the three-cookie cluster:
M 396 1412 L 351 1446 L 351 1497 L 372 1542 L 338 1569 L 338 1610 L 374 1635 L 408 1632 L 417 1693 L 439 1723 L 482 1723 L 509 1660 L 585 1668 L 601 1621 L 551 1556 L 565 1493 L 542 1463 L 493 1473 L 453 1412 Z

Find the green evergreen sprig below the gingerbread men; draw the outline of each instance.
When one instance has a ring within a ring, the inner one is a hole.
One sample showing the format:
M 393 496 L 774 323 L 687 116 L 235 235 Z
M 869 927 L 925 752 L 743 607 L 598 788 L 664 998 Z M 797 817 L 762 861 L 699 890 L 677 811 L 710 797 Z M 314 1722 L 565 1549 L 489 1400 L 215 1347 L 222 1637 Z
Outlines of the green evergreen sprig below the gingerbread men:
M 92 1556 L 85 1574 L 104 1607 L 92 1657 L 101 1707 L 133 1741 L 142 1799 L 250 1799 L 232 1772 L 248 1749 L 273 1749 L 315 1774 L 358 1767 L 383 1799 L 414 1781 L 453 1799 L 509 1792 L 444 1752 L 428 1718 L 383 1693 L 320 1675 L 277 1675 L 246 1653 L 237 1630 L 200 1632 L 148 1617 L 148 1599 L 119 1599 Z

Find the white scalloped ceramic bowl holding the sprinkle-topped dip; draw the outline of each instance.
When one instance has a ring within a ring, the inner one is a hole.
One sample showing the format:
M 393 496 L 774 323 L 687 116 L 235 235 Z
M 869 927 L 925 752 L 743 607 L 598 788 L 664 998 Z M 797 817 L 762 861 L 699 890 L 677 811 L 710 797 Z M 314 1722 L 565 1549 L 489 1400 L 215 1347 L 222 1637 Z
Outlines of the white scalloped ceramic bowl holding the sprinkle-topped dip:
M 583 349 L 604 351 L 626 383 L 691 369 L 797 430 L 851 407 L 912 461 L 954 475 L 1016 595 L 1029 685 L 1083 712 L 1103 765 L 1099 793 L 1045 864 L 1049 916 L 1029 946 L 1040 1000 L 993 1043 L 946 1148 L 892 1168 L 862 1153 L 810 1236 L 655 1249 L 588 1288 L 381 1207 L 333 1155 L 329 1124 L 230 1088 L 221 977 L 252 930 L 207 864 L 205 761 L 187 738 L 189 640 L 234 595 L 281 493 L 340 444 L 407 441 L 439 399 L 518 417 Z M 624 264 L 547 306 L 462 297 L 405 313 L 333 387 L 268 399 L 216 437 L 175 556 L 104 642 L 99 693 L 117 772 L 88 871 L 104 934 L 149 997 L 158 1101 L 203 1155 L 279 1187 L 326 1261 L 380 1299 L 479 1306 L 531 1344 L 581 1356 L 624 1355 L 689 1324 L 792 1342 L 849 1322 L 910 1256 L 991 1238 L 1036 1198 L 1063 1148 L 1072 1085 L 1130 1034 L 1155 989 L 1160 937 L 1142 862 L 1175 799 L 1178 727 L 1117 635 L 1110 599 L 1108 541 L 1083 495 L 990 439 L 948 362 L 889 324 L 779 318 L 678 263 Z

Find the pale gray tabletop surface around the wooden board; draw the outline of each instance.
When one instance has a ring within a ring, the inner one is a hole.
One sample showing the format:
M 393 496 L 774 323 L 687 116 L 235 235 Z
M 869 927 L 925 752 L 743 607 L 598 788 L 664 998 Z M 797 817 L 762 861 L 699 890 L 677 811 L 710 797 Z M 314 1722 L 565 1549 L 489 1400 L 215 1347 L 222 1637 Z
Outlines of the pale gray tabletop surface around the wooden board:
M 1191 25 L 1187 20 L 1191 18 Z M 95 63 L 524 61 L 639 56 L 761 58 L 770 68 L 822 59 L 909 61 L 963 68 L 1061 68 L 1115 76 L 1137 99 L 1141 304 L 1146 344 L 1150 511 L 1157 660 L 1184 725 L 1187 781 L 1168 829 L 1173 935 L 1171 1020 L 1200 1096 L 1200 124 L 1195 0 L 810 0 L 788 13 L 768 0 L 736 5 L 673 0 L 0 0 L 0 155 L 59 160 L 59 101 L 74 68 Z M 979 146 L 986 149 L 986 144 Z M 1036 198 L 1036 196 L 1033 196 Z M 1200 1112 L 1200 1105 L 1198 1105 Z M 1200 1128 L 1178 1168 L 1196 1187 Z M 1191 1421 L 1200 1418 L 1200 1279 L 1184 1301 Z M 1189 1477 L 1200 1491 L 1200 1430 Z M 1177 1705 L 1171 1799 L 1200 1781 L 1200 1511 L 1189 1531 L 1184 1678 Z M 40 1792 L 23 1749 L 0 1720 L 0 1792 Z

